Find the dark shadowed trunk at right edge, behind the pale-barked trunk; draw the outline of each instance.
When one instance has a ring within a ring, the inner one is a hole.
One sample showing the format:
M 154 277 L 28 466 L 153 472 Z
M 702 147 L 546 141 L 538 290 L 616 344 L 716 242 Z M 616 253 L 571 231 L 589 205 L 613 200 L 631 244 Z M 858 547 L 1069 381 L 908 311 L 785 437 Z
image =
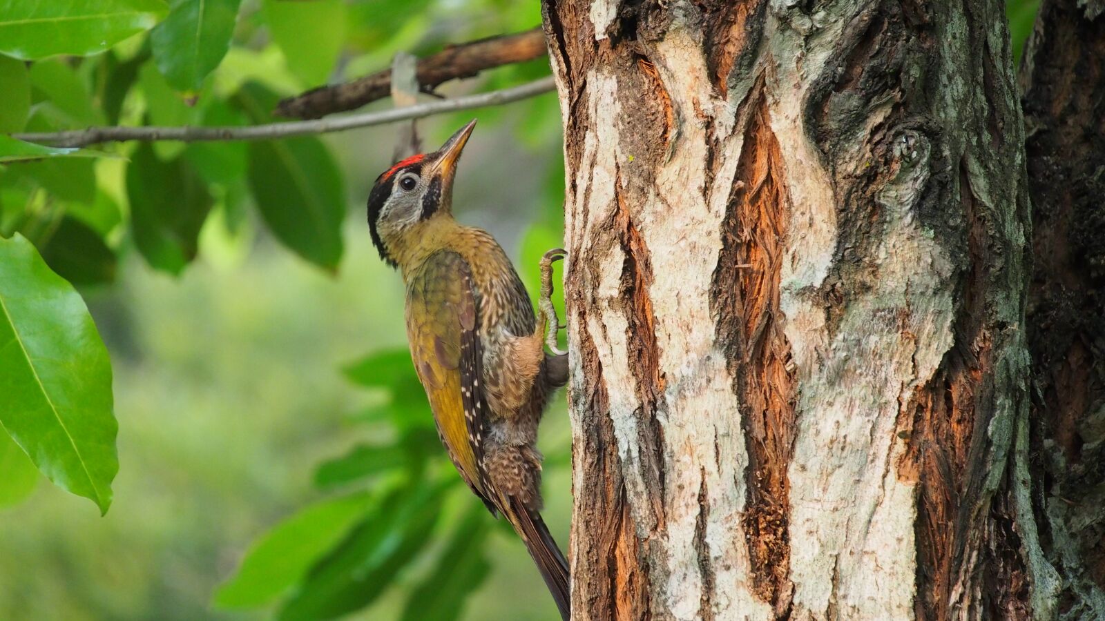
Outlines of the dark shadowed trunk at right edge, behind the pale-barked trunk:
M 1105 2 L 1046 0 L 1021 67 L 1036 515 L 1061 619 L 1105 619 Z

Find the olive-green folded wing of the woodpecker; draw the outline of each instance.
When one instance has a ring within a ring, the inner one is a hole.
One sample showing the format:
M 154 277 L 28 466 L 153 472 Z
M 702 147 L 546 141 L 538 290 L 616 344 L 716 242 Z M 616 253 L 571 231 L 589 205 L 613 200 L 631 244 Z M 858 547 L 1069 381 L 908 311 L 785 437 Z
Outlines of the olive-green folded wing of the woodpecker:
M 483 467 L 487 406 L 480 386 L 474 287 L 461 255 L 433 254 L 407 283 L 407 337 L 441 441 L 461 477 L 494 513 L 495 494 Z

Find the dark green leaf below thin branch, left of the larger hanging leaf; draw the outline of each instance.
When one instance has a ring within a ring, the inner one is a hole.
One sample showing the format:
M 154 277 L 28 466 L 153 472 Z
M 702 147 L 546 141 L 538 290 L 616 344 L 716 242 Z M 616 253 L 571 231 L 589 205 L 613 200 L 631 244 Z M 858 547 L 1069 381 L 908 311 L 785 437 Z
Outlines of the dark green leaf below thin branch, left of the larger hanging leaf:
M 214 202 L 207 186 L 183 159 L 162 162 L 146 143 L 127 167 L 127 199 L 138 251 L 152 267 L 180 274 Z

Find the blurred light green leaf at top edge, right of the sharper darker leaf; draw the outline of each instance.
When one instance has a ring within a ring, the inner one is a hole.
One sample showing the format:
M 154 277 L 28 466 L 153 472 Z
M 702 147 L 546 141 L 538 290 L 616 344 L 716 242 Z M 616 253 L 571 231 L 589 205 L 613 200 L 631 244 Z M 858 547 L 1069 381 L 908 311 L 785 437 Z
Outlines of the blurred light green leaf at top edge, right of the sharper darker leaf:
M 287 69 L 308 86 L 324 84 L 345 43 L 345 2 L 264 0 L 261 12 Z

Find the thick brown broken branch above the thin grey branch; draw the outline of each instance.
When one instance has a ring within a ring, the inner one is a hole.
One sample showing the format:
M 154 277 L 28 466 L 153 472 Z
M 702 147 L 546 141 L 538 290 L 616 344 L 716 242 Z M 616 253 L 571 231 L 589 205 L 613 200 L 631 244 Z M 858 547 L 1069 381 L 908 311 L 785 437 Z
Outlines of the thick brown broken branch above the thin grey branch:
M 535 28 L 517 34 L 450 45 L 420 60 L 415 75 L 422 91 L 429 92 L 450 80 L 471 77 L 487 69 L 530 61 L 547 53 L 545 33 Z M 352 82 L 319 86 L 281 101 L 276 106 L 276 114 L 291 118 L 319 118 L 336 112 L 356 109 L 387 97 L 390 84 L 391 70 L 388 69 Z

